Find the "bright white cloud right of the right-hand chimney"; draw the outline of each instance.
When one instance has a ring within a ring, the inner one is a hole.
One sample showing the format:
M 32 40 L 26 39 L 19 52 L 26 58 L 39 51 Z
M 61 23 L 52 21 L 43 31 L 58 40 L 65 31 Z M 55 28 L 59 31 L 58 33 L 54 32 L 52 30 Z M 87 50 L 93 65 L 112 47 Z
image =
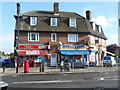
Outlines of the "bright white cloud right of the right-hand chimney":
M 105 16 L 98 15 L 96 18 L 92 18 L 92 20 L 96 24 L 101 25 L 102 27 L 108 27 L 111 25 L 111 23 L 108 21 L 108 19 Z

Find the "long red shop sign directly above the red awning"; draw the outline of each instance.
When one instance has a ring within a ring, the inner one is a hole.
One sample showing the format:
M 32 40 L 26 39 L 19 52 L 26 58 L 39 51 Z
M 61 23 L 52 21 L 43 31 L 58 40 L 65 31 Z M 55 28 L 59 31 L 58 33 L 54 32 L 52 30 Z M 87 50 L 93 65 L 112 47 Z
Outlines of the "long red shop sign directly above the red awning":
M 19 49 L 47 49 L 48 45 L 19 45 Z

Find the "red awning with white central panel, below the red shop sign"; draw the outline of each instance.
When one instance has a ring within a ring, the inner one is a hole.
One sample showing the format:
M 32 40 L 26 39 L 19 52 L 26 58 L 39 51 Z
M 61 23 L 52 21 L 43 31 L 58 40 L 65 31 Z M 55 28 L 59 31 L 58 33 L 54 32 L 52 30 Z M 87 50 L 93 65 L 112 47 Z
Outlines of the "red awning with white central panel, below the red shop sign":
M 19 50 L 18 55 L 47 55 L 47 50 Z

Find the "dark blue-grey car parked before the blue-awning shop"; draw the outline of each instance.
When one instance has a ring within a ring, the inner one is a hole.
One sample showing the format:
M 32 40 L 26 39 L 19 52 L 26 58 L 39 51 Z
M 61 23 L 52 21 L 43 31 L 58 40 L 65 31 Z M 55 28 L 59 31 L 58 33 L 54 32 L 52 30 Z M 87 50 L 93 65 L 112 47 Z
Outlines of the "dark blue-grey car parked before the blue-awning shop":
M 74 67 L 74 68 L 77 68 L 77 67 L 87 68 L 88 67 L 87 62 L 83 62 L 83 61 L 81 61 L 79 59 L 68 60 L 68 63 L 71 63 L 71 66 Z

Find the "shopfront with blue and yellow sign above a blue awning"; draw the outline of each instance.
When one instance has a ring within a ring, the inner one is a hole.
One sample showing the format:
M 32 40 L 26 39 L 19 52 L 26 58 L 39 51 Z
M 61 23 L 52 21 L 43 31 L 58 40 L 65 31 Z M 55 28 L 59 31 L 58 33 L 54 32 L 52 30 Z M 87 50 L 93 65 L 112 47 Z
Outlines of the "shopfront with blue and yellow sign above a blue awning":
M 62 45 L 60 48 L 60 60 L 88 60 L 89 51 L 86 45 Z

